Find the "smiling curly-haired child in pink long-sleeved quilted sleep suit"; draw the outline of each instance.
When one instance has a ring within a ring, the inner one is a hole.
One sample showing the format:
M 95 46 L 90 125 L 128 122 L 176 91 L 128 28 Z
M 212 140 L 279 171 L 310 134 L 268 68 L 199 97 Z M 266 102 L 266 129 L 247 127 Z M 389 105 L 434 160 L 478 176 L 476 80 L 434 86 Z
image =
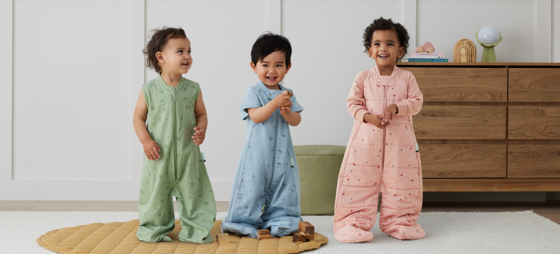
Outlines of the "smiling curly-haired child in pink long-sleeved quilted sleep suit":
M 381 231 L 402 240 L 424 238 L 416 222 L 422 207 L 422 169 L 412 129 L 422 93 L 412 73 L 395 66 L 407 52 L 409 35 L 400 23 L 382 17 L 367 27 L 363 44 L 376 65 L 358 73 L 347 99 L 355 121 L 338 174 L 334 238 L 373 239 L 369 230 L 380 194 Z

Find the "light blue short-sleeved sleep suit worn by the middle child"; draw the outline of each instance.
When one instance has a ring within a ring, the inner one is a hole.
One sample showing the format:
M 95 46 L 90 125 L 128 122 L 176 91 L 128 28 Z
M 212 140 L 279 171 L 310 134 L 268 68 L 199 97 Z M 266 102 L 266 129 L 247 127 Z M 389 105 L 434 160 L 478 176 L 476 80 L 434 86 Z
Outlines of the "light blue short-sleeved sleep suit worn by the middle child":
M 247 90 L 241 104 L 246 120 L 246 141 L 239 157 L 228 215 L 222 231 L 257 238 L 258 229 L 270 229 L 275 237 L 296 232 L 301 221 L 299 171 L 288 122 L 277 108 L 261 123 L 252 122 L 248 108 L 266 105 L 283 91 L 270 90 L 262 82 Z M 296 96 L 292 112 L 303 108 Z M 264 208 L 263 208 L 264 207 Z M 261 210 L 263 213 L 261 214 Z

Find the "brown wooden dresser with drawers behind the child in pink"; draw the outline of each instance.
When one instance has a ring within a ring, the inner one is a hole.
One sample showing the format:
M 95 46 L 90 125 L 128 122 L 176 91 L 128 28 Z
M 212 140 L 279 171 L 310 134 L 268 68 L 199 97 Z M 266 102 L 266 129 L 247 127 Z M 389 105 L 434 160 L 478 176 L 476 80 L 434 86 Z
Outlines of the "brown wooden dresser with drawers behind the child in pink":
M 559 192 L 560 63 L 402 62 L 424 192 Z

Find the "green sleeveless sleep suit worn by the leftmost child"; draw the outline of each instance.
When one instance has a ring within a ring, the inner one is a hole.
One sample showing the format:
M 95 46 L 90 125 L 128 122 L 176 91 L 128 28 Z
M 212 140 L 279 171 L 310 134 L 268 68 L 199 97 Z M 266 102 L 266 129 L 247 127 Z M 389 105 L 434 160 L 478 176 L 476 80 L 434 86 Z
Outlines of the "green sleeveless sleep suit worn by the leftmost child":
M 158 146 L 160 159 L 144 154 L 140 183 L 140 227 L 143 242 L 168 242 L 175 227 L 173 196 L 177 197 L 183 242 L 211 243 L 216 219 L 214 192 L 202 161 L 200 148 L 191 137 L 196 126 L 198 83 L 181 78 L 177 87 L 161 76 L 142 85 L 148 106 L 148 132 Z

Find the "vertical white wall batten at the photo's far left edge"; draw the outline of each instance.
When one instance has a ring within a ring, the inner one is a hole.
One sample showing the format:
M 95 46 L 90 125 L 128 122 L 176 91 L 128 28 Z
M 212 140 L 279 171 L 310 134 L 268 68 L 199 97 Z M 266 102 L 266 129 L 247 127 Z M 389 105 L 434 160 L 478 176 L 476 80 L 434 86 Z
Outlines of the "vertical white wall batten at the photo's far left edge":
M 0 179 L 12 179 L 14 3 L 0 0 Z M 8 50 L 6 50 L 8 49 Z

